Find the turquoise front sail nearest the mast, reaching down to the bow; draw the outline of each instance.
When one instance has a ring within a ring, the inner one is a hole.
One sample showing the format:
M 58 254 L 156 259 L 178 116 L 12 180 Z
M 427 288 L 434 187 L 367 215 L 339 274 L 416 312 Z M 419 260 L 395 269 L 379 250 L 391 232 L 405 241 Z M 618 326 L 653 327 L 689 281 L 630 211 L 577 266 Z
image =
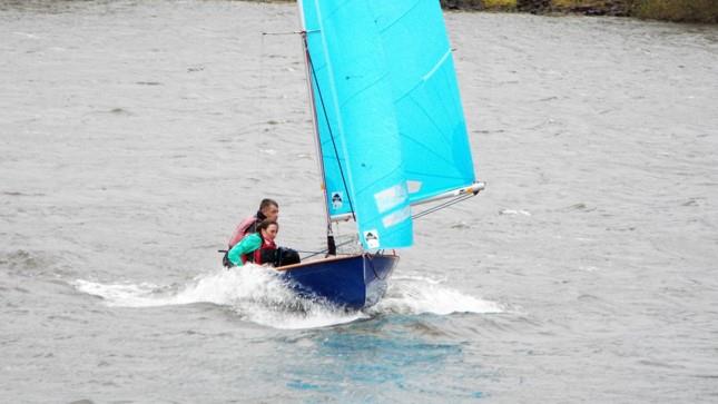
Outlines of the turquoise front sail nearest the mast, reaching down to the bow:
M 413 243 L 392 75 L 375 3 L 299 1 L 327 201 L 333 207 L 330 184 L 338 179 L 338 189 L 346 191 L 346 203 L 354 208 L 360 240 L 366 249 Z

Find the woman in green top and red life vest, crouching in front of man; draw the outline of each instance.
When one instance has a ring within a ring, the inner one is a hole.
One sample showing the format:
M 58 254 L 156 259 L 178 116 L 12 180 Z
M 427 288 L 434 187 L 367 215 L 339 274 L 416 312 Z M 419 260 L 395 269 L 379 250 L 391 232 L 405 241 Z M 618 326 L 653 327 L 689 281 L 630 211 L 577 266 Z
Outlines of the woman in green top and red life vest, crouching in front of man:
M 277 245 L 274 239 L 279 231 L 279 225 L 272 219 L 264 219 L 257 226 L 257 233 L 245 236 L 227 253 L 227 258 L 233 265 L 242 266 L 247 262 L 274 264 Z

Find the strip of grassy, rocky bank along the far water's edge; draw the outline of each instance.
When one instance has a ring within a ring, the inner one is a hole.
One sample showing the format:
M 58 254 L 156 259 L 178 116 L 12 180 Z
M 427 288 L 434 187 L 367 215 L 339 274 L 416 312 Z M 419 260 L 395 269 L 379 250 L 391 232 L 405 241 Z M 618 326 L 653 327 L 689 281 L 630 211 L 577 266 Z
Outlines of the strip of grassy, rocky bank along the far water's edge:
M 449 9 L 579 12 L 680 22 L 718 22 L 718 0 L 441 0 Z

